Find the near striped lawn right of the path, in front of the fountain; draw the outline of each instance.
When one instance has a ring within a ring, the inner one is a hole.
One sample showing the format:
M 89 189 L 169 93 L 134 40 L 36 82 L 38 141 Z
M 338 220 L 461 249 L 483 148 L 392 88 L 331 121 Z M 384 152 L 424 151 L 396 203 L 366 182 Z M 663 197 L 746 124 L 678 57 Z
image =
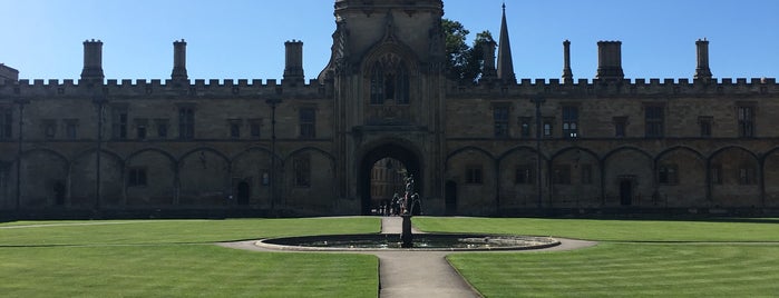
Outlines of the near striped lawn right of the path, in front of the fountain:
M 448 257 L 485 297 L 777 297 L 779 246 L 601 244 Z

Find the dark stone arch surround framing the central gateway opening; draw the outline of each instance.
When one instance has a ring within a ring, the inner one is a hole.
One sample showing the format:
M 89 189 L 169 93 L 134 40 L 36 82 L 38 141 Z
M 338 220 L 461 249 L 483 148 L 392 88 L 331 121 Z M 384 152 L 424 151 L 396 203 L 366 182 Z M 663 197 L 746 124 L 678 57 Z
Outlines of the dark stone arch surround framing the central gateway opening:
M 377 161 L 386 159 L 386 158 L 391 158 L 397 161 L 400 161 L 402 166 L 408 170 L 410 175 L 413 175 L 413 180 L 416 183 L 416 191 L 419 192 L 419 196 L 423 199 L 425 196 L 422 193 L 422 171 L 421 171 L 421 162 L 417 155 L 411 151 L 410 149 L 400 146 L 398 143 L 387 143 L 382 145 L 379 147 L 373 148 L 369 152 L 364 153 L 362 156 L 362 159 L 360 160 L 360 168 L 359 171 L 357 172 L 358 175 L 358 192 L 360 193 L 361 197 L 361 213 L 362 215 L 370 215 L 371 213 L 371 207 L 372 205 L 372 199 L 371 199 L 371 170 L 373 169 L 373 166 L 376 165 Z M 402 193 L 399 193 L 402 195 Z

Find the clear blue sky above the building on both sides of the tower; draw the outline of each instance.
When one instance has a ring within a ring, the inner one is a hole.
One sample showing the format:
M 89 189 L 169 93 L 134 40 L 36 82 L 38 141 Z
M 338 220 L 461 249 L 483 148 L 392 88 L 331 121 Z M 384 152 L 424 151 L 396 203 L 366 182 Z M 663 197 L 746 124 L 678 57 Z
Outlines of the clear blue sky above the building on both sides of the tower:
M 280 79 L 284 41 L 304 42 L 306 78 L 330 58 L 333 0 L 0 0 L 0 63 L 21 79 L 78 79 L 81 42 L 100 39 L 107 79 L 167 79 L 187 41 L 191 79 Z M 502 0 L 445 0 L 445 18 L 497 38 Z M 717 78 L 779 77 L 776 0 L 507 0 L 517 78 L 593 78 L 598 40 L 621 40 L 627 78 L 691 78 L 699 38 Z

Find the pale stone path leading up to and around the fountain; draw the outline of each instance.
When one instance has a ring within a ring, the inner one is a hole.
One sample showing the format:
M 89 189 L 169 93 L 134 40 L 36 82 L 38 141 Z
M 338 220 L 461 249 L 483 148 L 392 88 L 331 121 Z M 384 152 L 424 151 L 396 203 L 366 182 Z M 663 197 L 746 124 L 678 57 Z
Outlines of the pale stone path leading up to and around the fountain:
M 382 234 L 400 234 L 402 219 L 400 217 L 383 217 Z M 421 234 L 413 229 L 415 234 Z M 559 239 L 559 246 L 543 250 L 569 250 L 596 245 L 593 241 Z M 225 242 L 221 246 L 270 251 L 254 245 L 252 241 Z M 525 250 L 522 252 L 538 251 Z M 349 252 L 349 251 L 339 251 Z M 517 254 L 520 251 L 496 251 L 494 254 Z M 373 250 L 353 251 L 353 254 L 374 255 L 379 258 L 379 297 L 481 297 L 446 260 L 452 251 L 412 251 L 412 250 Z

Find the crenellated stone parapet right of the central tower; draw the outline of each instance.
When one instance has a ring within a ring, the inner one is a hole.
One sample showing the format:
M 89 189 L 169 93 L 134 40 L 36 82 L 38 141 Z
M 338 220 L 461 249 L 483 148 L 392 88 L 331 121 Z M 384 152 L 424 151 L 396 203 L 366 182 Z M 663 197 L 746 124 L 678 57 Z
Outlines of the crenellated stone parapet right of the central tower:
M 564 83 L 559 79 L 520 79 L 518 83 L 494 81 L 471 86 L 450 82 L 447 98 L 593 98 L 593 97 L 695 97 L 695 96 L 778 96 L 775 78 L 738 79 L 578 79 Z

